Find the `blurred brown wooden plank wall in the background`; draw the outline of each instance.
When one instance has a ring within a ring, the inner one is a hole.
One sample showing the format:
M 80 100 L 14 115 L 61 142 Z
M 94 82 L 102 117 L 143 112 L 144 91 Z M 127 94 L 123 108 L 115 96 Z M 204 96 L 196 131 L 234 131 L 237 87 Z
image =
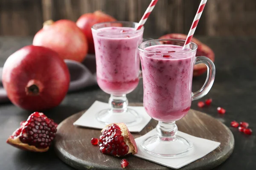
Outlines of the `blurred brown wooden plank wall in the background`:
M 102 10 L 138 22 L 151 0 L 0 0 L 0 35 L 34 35 L 45 20 L 70 19 Z M 145 35 L 187 34 L 200 0 L 159 0 Z M 208 0 L 197 35 L 256 35 L 256 0 Z

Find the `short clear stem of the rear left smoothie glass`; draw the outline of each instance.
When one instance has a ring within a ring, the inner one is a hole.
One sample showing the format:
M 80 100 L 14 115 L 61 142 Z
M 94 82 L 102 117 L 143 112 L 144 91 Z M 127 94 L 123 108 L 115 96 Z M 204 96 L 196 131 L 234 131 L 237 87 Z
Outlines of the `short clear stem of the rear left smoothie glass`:
M 128 99 L 126 94 L 123 95 L 112 95 L 110 96 L 108 103 L 112 113 L 122 113 L 127 111 Z

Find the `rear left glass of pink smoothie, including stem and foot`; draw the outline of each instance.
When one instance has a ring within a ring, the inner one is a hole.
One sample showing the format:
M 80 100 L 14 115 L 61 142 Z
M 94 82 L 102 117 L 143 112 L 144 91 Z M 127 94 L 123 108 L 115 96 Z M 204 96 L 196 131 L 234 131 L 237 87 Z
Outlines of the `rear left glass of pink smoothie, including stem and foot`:
M 100 122 L 136 124 L 141 121 L 139 113 L 127 108 L 126 98 L 137 87 L 141 75 L 138 46 L 143 41 L 144 28 L 136 31 L 137 25 L 118 21 L 92 27 L 97 82 L 104 92 L 111 94 L 110 108 L 96 114 Z

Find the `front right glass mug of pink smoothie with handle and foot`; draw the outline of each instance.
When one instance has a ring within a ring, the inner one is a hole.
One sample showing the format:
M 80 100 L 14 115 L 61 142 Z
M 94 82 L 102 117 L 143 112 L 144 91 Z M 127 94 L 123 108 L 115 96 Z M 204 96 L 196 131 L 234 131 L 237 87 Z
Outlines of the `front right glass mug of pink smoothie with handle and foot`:
M 175 121 L 189 112 L 191 102 L 205 96 L 215 78 L 215 66 L 207 57 L 195 57 L 197 45 L 183 50 L 184 40 L 150 40 L 140 44 L 143 72 L 143 105 L 153 119 L 159 121 L 157 135 L 145 139 L 143 150 L 156 156 L 172 157 L 188 152 L 192 143 L 176 136 Z M 192 92 L 195 64 L 207 65 L 203 87 Z

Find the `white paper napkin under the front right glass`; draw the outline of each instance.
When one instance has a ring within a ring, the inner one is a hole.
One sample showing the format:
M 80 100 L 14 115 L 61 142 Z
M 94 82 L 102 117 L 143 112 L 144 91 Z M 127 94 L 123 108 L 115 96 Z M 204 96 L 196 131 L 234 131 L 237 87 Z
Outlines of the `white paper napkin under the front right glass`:
M 157 134 L 156 129 L 153 129 L 150 132 L 146 133 L 145 135 L 136 138 L 135 141 L 138 147 L 138 153 L 134 156 L 155 162 L 157 164 L 164 165 L 166 167 L 171 167 L 174 169 L 179 169 L 180 167 L 183 167 L 197 159 L 202 158 L 203 156 L 212 152 L 212 150 L 215 150 L 221 144 L 220 142 L 214 142 L 208 139 L 198 138 L 198 137 L 191 136 L 189 134 L 178 131 L 177 133 L 178 136 L 188 139 L 193 143 L 192 149 L 188 153 L 186 153 L 186 155 L 184 156 L 175 157 L 175 158 L 164 158 L 164 157 L 150 155 L 149 153 L 146 153 L 145 151 L 143 151 L 141 147 L 142 142 L 146 138 L 148 138 L 149 136 L 154 136 L 156 134 Z

